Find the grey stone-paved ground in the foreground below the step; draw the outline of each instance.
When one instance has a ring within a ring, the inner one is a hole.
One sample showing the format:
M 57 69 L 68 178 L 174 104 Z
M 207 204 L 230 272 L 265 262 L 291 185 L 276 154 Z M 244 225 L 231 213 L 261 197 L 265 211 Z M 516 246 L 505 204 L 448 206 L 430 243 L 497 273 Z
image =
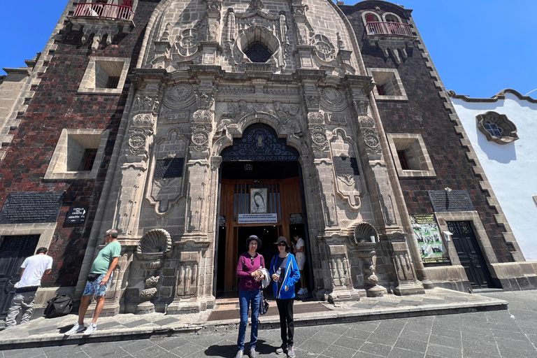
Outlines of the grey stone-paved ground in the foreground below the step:
M 537 291 L 483 295 L 509 301 L 508 309 L 296 327 L 296 357 L 537 357 Z M 0 357 L 232 358 L 236 335 L 233 331 L 6 350 Z M 274 353 L 279 336 L 276 329 L 259 331 L 259 357 L 282 357 Z

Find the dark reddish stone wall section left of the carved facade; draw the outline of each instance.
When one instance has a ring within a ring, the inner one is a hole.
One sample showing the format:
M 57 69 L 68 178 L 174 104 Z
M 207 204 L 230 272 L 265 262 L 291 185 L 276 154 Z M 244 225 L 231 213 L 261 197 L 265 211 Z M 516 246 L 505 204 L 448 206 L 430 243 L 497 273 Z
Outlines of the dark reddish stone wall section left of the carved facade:
M 57 50 L 40 75 L 41 83 L 31 89 L 35 94 L 26 113 L 18 117 L 20 126 L 10 131 L 13 141 L 3 148 L 7 153 L 0 162 L 0 207 L 10 192 L 66 191 L 48 253 L 54 259 L 52 273 L 43 279 L 44 287 L 76 285 L 130 86 L 127 79 L 122 94 L 77 94 L 80 80 L 91 56 L 131 57 L 133 69 L 155 6 L 156 1 L 139 1 L 136 27 L 94 52 L 90 44 L 80 43 L 82 31 L 69 31 L 66 22 L 56 41 Z M 96 180 L 43 180 L 64 128 L 110 129 Z M 84 225 L 64 224 L 73 204 L 89 206 Z

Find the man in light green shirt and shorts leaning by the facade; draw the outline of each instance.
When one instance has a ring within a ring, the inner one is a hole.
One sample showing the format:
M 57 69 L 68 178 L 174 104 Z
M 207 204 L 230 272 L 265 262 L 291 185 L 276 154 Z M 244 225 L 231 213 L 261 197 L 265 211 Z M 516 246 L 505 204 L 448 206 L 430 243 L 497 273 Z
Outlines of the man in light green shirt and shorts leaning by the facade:
M 97 255 L 92 265 L 92 271 L 87 275 L 86 288 L 82 294 L 82 299 L 80 299 L 80 308 L 78 309 L 78 323 L 69 331 L 66 331 L 66 336 L 84 331 L 84 316 L 86 315 L 87 307 L 90 306 L 92 294 L 95 294 L 97 304 L 92 323 L 84 331 L 84 336 L 89 336 L 97 329 L 97 318 L 99 318 L 101 310 L 103 310 L 106 287 L 112 279 L 112 273 L 115 265 L 120 261 L 121 254 L 121 244 L 117 242 L 117 230 L 106 231 L 104 239 L 106 246 Z

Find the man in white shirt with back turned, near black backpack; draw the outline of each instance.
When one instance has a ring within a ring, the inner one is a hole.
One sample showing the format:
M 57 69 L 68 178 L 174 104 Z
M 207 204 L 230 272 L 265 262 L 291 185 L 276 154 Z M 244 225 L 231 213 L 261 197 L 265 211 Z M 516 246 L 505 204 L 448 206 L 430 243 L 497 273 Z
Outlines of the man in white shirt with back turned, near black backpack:
M 11 300 L 11 306 L 6 316 L 6 329 L 15 327 L 16 318 L 21 308 L 20 324 L 31 319 L 31 314 L 34 312 L 34 299 L 37 289 L 41 285 L 41 278 L 52 271 L 52 257 L 45 255 L 47 252 L 47 248 L 38 248 L 36 255 L 25 259 L 20 266 L 22 268 L 20 281 L 15 284 L 15 296 Z

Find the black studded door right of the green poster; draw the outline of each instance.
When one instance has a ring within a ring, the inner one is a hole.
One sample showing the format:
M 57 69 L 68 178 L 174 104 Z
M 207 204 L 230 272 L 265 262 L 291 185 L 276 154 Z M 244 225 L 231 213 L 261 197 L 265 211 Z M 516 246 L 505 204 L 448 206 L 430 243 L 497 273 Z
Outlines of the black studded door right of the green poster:
M 453 233 L 453 245 L 472 287 L 494 287 L 487 263 L 473 234 L 470 222 L 447 222 L 447 228 Z

